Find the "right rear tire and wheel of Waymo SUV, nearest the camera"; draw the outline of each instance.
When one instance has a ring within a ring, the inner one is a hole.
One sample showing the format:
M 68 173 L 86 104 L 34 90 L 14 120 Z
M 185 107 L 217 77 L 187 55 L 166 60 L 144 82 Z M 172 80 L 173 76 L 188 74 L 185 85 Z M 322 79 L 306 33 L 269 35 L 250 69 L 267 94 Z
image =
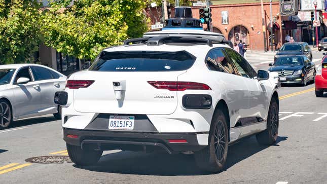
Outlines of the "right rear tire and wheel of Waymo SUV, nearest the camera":
M 220 109 L 213 115 L 208 141 L 206 148 L 194 153 L 196 164 L 202 170 L 219 172 L 225 167 L 229 141 L 226 117 Z

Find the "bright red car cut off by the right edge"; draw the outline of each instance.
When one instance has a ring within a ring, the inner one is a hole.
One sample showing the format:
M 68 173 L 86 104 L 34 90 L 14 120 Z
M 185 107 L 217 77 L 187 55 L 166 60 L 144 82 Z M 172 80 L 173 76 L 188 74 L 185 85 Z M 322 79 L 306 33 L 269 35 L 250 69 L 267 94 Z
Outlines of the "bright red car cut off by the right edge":
M 322 97 L 323 92 L 327 91 L 327 55 L 323 57 L 321 65 L 317 68 L 315 87 L 316 97 Z

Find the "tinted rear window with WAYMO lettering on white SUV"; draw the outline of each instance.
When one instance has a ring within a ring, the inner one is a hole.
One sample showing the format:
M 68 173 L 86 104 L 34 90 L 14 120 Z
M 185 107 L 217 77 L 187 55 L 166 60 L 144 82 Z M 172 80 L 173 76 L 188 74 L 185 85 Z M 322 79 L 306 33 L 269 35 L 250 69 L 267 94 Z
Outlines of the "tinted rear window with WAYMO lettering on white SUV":
M 95 71 L 178 71 L 189 69 L 196 57 L 186 51 L 104 52 L 89 70 Z

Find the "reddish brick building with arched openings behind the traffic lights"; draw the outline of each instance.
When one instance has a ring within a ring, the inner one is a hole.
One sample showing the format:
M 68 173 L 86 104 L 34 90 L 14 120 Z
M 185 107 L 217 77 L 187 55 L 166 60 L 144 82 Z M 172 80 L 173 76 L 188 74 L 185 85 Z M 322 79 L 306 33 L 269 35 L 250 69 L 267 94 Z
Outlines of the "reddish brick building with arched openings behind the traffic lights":
M 199 2 L 199 1 L 195 1 Z M 205 2 L 205 1 L 202 1 Z M 199 8 L 192 7 L 194 18 L 199 18 Z M 262 11 L 261 3 L 256 0 L 212 0 L 210 1 L 210 8 L 212 14 L 212 31 L 220 32 L 225 37 L 234 42 L 239 40 L 248 44 L 249 50 L 264 50 L 264 36 L 262 26 Z M 160 10 L 152 9 L 152 13 L 147 10 L 147 15 L 151 17 L 152 22 L 160 21 L 157 17 L 161 17 Z M 159 12 L 159 15 L 157 14 Z M 156 15 L 151 16 L 151 14 Z M 172 10 L 173 15 L 173 10 Z M 266 31 L 266 45 L 270 49 L 270 3 L 269 0 L 264 0 L 264 15 L 265 15 L 265 31 Z M 281 17 L 279 16 L 279 1 L 272 2 L 272 15 L 275 20 L 273 31 L 274 49 L 280 48 L 283 39 L 285 38 L 284 31 L 281 29 Z M 224 16 L 224 19 L 223 19 Z M 156 20 L 155 20 L 156 19 Z M 155 21 L 154 21 L 155 20 Z M 204 29 L 206 24 L 203 25 Z

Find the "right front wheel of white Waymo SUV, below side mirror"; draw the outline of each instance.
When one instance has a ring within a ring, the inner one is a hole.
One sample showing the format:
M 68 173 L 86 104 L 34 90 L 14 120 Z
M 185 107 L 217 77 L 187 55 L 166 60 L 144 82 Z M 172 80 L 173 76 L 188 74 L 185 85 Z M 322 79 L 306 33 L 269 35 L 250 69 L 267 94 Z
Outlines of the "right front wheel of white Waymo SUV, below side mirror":
M 267 129 L 263 132 L 260 132 L 256 135 L 257 140 L 260 144 L 272 145 L 276 143 L 278 136 L 278 127 L 279 127 L 279 108 L 276 100 L 271 99 L 271 103 L 268 111 L 267 118 Z

